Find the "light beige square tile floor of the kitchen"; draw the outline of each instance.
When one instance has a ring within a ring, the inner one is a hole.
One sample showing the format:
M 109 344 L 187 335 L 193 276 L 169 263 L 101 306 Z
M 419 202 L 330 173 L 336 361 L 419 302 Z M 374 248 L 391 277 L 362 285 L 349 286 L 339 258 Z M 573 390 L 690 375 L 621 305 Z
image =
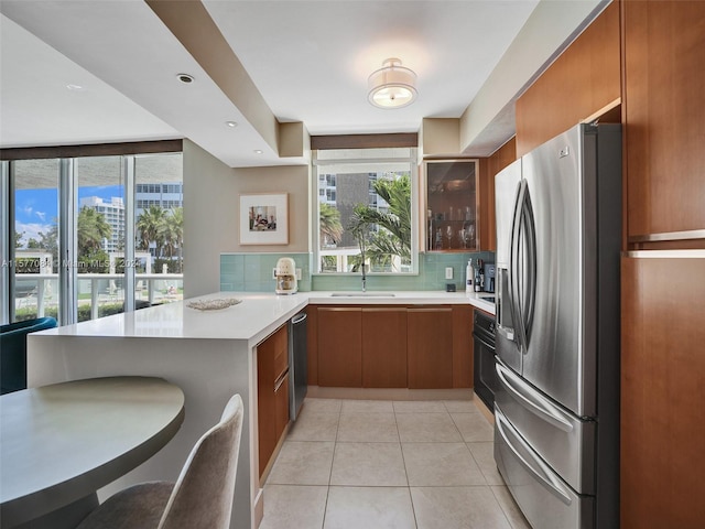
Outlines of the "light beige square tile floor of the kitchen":
M 471 401 L 306 399 L 261 529 L 530 529 Z

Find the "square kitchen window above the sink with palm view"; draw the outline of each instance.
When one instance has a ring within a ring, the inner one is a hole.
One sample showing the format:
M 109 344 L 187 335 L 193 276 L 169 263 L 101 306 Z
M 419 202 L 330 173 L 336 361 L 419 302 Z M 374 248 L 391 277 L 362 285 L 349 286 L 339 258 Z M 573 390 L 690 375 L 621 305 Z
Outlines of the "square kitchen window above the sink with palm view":
M 413 148 L 314 153 L 318 190 L 316 261 L 321 273 L 413 273 L 417 176 Z

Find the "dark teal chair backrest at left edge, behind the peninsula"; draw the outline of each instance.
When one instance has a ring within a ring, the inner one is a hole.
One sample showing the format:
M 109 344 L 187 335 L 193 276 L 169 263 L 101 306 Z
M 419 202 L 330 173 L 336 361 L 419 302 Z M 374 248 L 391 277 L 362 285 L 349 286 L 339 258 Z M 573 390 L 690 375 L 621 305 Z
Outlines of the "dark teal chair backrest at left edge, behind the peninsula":
M 55 326 L 48 316 L 0 325 L 0 395 L 26 388 L 26 335 Z

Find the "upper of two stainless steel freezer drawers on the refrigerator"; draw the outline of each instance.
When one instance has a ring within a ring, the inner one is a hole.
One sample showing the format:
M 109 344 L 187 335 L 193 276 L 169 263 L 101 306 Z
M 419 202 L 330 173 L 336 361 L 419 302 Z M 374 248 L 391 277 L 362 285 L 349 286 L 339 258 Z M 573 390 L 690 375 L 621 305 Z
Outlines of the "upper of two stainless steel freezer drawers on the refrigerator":
M 503 417 L 573 489 L 595 494 L 595 421 L 558 407 L 501 363 L 495 367 Z

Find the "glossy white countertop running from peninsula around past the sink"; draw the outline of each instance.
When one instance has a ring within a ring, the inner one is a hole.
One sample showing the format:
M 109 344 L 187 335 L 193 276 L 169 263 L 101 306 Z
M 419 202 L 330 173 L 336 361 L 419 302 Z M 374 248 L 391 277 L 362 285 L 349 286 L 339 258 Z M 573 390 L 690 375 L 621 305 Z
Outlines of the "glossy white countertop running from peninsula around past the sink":
M 346 292 L 351 294 L 352 292 Z M 307 304 L 471 304 L 495 314 L 495 304 L 482 296 L 491 293 L 444 291 L 393 292 L 393 296 L 378 296 L 368 292 L 355 296 L 333 296 L 332 292 L 297 292 L 292 295 L 274 293 L 219 292 L 181 302 L 151 306 L 134 312 L 90 320 L 74 325 L 34 333 L 36 336 L 106 336 L 246 339 L 252 345 L 284 324 Z M 187 306 L 194 300 L 238 299 L 241 303 L 215 311 L 199 311 Z

